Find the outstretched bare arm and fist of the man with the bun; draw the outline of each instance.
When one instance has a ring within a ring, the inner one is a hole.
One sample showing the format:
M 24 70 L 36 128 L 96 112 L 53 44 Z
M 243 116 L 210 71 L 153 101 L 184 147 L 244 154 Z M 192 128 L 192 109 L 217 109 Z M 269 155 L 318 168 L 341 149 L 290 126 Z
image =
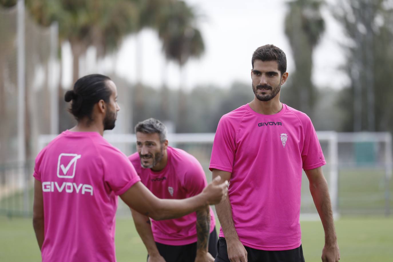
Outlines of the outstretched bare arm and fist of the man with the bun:
M 191 198 L 160 199 L 154 196 L 140 181 L 132 185 L 120 198 L 132 209 L 154 220 L 179 218 L 190 214 L 206 205 L 221 202 L 228 194 L 228 181 L 220 183 L 220 178 L 213 180 L 204 190 Z

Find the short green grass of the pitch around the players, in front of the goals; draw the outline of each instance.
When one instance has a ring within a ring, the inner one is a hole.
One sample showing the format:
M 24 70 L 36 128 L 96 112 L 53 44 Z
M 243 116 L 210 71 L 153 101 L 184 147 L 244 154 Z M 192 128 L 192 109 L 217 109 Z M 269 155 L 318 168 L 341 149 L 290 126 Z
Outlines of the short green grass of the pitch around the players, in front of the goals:
M 393 217 L 347 217 L 335 222 L 340 262 L 393 261 Z M 301 222 L 307 262 L 321 261 L 323 229 L 319 221 Z M 119 262 L 144 262 L 146 249 L 130 218 L 118 218 L 116 255 Z M 0 261 L 40 261 L 31 219 L 0 216 Z

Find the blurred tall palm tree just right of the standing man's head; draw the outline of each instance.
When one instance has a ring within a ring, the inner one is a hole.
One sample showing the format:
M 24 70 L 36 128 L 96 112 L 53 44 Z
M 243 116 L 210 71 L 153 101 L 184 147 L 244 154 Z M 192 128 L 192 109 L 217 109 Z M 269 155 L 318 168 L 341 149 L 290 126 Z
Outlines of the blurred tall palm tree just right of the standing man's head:
M 285 17 L 285 34 L 292 48 L 296 71 L 289 78 L 283 101 L 309 115 L 316 101 L 316 90 L 311 81 L 312 53 L 325 31 L 320 13 L 322 4 L 322 0 L 288 2 Z

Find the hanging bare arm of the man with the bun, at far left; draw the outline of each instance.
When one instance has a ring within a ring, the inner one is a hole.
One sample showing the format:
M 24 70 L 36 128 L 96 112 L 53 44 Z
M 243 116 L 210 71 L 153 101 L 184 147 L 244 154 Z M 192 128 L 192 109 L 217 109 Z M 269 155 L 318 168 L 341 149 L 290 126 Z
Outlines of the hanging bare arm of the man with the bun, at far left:
M 42 243 L 44 243 L 44 200 L 42 198 L 42 184 L 37 179 L 34 180 L 33 228 L 41 250 Z

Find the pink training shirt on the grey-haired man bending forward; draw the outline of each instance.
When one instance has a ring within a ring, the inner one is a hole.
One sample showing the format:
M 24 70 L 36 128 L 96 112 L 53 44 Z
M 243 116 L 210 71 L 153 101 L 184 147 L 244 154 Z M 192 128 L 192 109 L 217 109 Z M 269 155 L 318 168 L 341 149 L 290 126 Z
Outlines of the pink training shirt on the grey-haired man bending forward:
M 158 198 L 184 199 L 202 192 L 208 184 L 202 166 L 184 150 L 168 147 L 168 163 L 159 172 L 141 167 L 138 152 L 129 156 L 141 182 Z M 214 213 L 210 208 L 210 232 L 215 228 Z M 181 218 L 152 221 L 154 241 L 171 246 L 182 246 L 197 241 L 196 212 Z

